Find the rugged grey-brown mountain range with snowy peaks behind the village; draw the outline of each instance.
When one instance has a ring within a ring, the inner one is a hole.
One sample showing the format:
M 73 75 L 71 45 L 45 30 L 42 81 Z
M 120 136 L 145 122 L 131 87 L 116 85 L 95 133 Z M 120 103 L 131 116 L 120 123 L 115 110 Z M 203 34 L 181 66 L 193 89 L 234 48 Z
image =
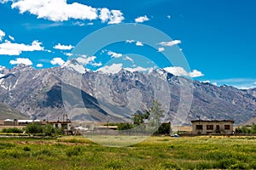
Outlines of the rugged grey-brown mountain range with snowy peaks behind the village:
M 0 103 L 31 118 L 127 122 L 135 112 L 148 110 L 154 99 L 162 104 L 165 121 L 185 124 L 198 118 L 240 124 L 256 113 L 256 88 L 218 87 L 161 69 L 89 71 L 75 59 L 41 70 L 28 65 L 0 68 Z

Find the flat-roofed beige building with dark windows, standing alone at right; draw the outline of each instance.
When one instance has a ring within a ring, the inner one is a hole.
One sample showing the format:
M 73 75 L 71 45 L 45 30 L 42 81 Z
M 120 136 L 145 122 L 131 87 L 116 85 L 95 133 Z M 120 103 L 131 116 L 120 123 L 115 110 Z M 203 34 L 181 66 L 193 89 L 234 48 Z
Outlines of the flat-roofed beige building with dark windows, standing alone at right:
M 233 133 L 233 120 L 214 120 L 204 121 L 195 120 L 192 122 L 193 134 L 232 134 Z

